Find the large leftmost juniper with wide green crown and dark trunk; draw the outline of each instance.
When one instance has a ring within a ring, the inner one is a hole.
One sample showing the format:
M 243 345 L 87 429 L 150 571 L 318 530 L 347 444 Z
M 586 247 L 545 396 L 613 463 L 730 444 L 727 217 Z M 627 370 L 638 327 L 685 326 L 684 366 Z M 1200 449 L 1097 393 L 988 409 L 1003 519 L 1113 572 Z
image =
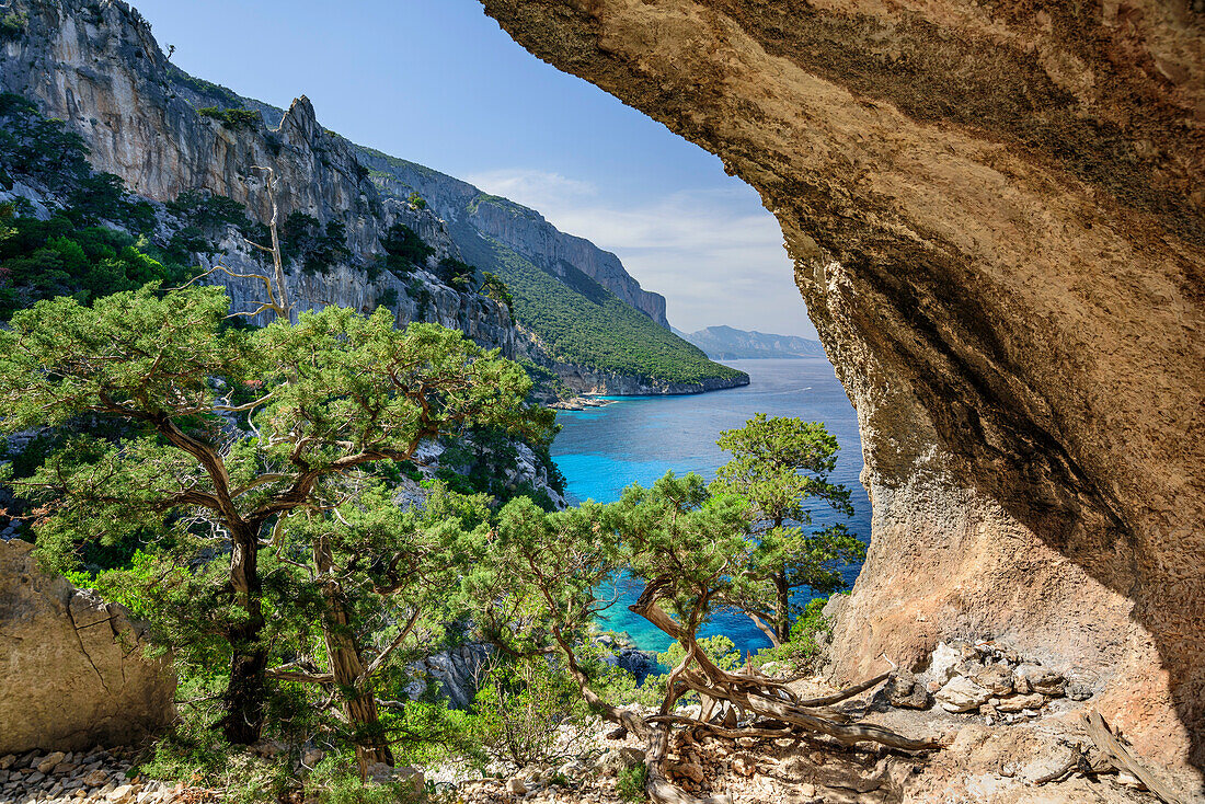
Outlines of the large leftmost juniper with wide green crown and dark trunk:
M 222 726 L 247 744 L 264 722 L 269 663 L 258 562 L 287 520 L 328 511 L 349 474 L 407 460 L 441 434 L 480 424 L 542 438 L 551 418 L 524 404 L 518 365 L 460 333 L 337 307 L 245 331 L 227 325 L 229 306 L 212 287 L 148 287 L 17 313 L 0 331 L 0 427 L 125 426 L 114 440 L 69 438 L 22 481 L 46 506 L 36 534 L 48 565 L 67 567 L 81 541 L 147 534 L 195 545 L 198 561 L 228 554 L 217 597 L 229 615 L 212 623 L 230 657 Z

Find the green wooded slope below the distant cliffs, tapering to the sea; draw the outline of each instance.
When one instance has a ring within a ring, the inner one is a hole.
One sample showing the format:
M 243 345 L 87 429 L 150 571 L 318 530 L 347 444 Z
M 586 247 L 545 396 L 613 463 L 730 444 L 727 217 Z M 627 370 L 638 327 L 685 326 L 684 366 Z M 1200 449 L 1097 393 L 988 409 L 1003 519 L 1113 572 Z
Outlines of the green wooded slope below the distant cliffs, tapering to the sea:
M 468 224 L 452 228 L 464 257 L 506 282 L 515 318 L 543 341 L 553 359 L 663 382 L 743 376 L 712 363 L 572 265 L 564 265 L 560 281 Z

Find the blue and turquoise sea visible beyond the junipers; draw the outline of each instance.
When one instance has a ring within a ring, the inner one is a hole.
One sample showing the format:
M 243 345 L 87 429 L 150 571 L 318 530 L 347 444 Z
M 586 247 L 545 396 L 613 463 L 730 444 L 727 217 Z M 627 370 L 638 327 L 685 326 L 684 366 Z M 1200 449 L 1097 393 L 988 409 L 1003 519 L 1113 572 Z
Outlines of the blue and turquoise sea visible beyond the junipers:
M 649 486 L 671 469 L 711 480 L 729 458 L 716 446 L 721 430 L 741 427 L 753 413 L 798 416 L 824 422 L 837 438 L 841 453 L 831 480 L 851 489 L 854 506 L 854 516 L 847 518 L 818 503 L 812 507 L 813 522 L 842 521 L 863 541 L 869 540 L 870 500 L 858 482 L 862 446 L 857 413 L 828 360 L 731 360 L 728 365 L 747 372 L 751 383 L 688 397 L 623 397 L 606 407 L 558 413 L 557 422 L 564 429 L 552 456 L 568 481 L 570 501 L 611 503 L 627 486 Z M 846 581 L 852 583 L 857 574 L 857 567 L 847 568 Z M 628 632 L 641 649 L 664 651 L 671 640 L 627 609 L 641 588 L 634 583 L 621 589 L 605 626 Z M 721 612 L 700 634 L 724 634 L 743 651 L 770 644 L 748 617 L 736 612 Z

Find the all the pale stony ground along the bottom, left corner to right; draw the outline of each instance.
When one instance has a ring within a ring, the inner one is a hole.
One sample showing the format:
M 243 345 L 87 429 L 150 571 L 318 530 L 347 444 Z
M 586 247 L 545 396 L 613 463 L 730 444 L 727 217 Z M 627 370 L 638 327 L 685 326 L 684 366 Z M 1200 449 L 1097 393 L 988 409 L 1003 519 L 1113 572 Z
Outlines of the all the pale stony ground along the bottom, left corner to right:
M 792 682 L 801 698 L 833 687 L 819 677 Z M 876 723 L 940 747 L 905 752 L 824 736 L 719 738 L 676 730 L 669 777 L 684 792 L 731 804 L 1198 804 L 1191 780 L 1156 768 L 1118 770 L 1086 728 L 1095 699 L 1089 685 L 1065 679 L 995 641 L 939 644 L 929 668 L 898 673 L 848 699 L 830 716 Z M 678 714 L 698 717 L 698 706 Z M 1121 740 L 1124 747 L 1124 739 Z M 436 804 L 625 799 L 622 777 L 645 759 L 627 733 L 595 721 L 559 728 L 556 759 L 524 768 L 495 764 L 490 777 L 454 764 L 422 769 L 380 765 L 380 780 L 424 782 Z M 200 804 L 222 791 L 142 779 L 131 751 L 30 752 L 0 758 L 0 804 Z M 312 763 L 311 763 L 312 764 Z M 1153 776 L 1150 774 L 1154 774 Z M 1162 799 L 1146 781 L 1156 782 Z M 306 800 L 321 800 L 313 797 Z

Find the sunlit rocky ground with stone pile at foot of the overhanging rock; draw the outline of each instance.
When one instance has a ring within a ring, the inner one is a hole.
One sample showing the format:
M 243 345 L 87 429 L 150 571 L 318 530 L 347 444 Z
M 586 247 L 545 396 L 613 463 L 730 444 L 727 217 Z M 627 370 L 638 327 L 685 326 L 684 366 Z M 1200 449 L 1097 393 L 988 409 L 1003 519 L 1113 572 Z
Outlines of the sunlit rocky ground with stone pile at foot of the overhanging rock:
M 819 679 L 793 685 L 827 694 Z M 994 641 L 937 646 L 929 669 L 845 702 L 839 716 L 877 723 L 940 749 L 909 753 L 828 738 L 737 740 L 675 734 L 670 779 L 699 797 L 733 804 L 1147 804 L 1160 800 L 1133 773 L 1118 771 L 1089 736 L 1083 716 L 1093 689 Z M 684 709 L 681 714 L 693 714 Z M 617 777 L 643 759 L 630 736 L 560 765 L 530 765 L 506 777 L 464 780 L 469 803 L 623 800 Z M 1123 741 L 1124 744 L 1124 741 Z M 1146 768 L 1171 798 L 1205 802 L 1193 781 Z

